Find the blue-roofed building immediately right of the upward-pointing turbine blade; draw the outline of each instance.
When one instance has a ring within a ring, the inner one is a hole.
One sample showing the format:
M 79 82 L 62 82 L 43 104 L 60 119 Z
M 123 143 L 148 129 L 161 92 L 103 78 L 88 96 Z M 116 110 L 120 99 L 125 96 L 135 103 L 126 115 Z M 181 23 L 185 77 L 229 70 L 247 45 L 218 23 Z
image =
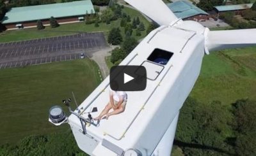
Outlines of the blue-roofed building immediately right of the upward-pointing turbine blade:
M 188 1 L 175 1 L 166 5 L 178 18 L 184 20 L 206 20 L 209 15 Z

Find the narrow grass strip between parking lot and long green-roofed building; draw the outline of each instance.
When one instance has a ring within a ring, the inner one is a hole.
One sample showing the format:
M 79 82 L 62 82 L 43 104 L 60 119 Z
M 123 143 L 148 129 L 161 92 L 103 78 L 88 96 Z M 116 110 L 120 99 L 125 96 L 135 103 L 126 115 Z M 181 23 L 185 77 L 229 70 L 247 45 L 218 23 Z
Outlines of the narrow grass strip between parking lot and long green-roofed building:
M 131 20 L 134 17 L 140 17 L 140 21 L 145 25 L 145 29 L 147 29 L 149 22 L 136 10 L 132 10 L 131 8 L 124 8 L 123 12 L 127 13 L 127 15 L 131 16 Z M 120 27 L 120 21 L 118 20 L 111 21 L 111 24 L 100 23 L 99 27 L 95 27 L 94 24 L 85 24 L 85 22 L 73 23 L 73 24 L 62 24 L 60 27 L 51 28 L 49 26 L 45 27 L 44 30 L 38 31 L 36 28 L 30 29 L 21 29 L 15 31 L 4 31 L 0 33 L 0 42 L 10 42 L 10 41 L 22 41 L 28 39 L 36 39 L 36 38 L 48 38 L 52 36 L 64 36 L 70 34 L 76 34 L 78 32 L 95 32 L 95 31 L 103 31 L 107 36 L 109 31 L 113 27 Z M 124 27 L 122 29 L 122 35 L 124 34 Z M 146 31 L 141 32 L 141 36 L 136 36 L 135 30 L 132 32 L 132 36 L 136 39 L 143 38 L 146 36 Z

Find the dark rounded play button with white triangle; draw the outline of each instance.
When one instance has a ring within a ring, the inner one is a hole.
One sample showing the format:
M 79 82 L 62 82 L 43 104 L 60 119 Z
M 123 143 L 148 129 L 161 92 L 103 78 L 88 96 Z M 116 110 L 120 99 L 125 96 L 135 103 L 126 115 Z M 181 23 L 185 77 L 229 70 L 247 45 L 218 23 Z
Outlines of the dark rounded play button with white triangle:
M 113 66 L 109 78 L 112 90 L 140 91 L 147 85 L 147 72 L 144 66 Z

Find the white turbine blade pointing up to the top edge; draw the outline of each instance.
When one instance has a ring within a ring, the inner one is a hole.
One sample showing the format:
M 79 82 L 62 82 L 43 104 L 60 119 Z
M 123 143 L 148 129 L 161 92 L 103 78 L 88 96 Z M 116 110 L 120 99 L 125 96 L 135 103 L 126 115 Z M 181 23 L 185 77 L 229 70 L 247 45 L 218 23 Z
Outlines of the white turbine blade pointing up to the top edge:
M 124 0 L 159 25 L 169 25 L 178 18 L 162 0 Z

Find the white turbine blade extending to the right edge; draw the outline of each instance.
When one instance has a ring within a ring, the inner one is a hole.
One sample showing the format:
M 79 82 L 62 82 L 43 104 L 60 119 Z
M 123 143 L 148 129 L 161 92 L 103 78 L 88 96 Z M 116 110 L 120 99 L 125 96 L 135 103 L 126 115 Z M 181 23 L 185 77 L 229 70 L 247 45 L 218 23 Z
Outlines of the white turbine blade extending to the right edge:
M 206 47 L 209 51 L 256 45 L 256 29 L 209 31 Z

